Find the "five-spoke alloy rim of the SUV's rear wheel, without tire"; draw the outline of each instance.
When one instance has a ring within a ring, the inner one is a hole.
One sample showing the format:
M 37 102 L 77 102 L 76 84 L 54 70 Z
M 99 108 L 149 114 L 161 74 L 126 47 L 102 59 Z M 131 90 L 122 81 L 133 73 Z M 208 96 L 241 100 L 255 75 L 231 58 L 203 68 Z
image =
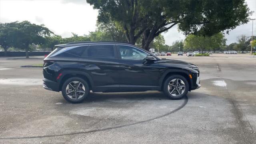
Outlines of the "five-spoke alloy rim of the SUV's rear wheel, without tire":
M 73 100 L 82 98 L 85 94 L 85 87 L 82 82 L 72 81 L 66 86 L 66 94 Z

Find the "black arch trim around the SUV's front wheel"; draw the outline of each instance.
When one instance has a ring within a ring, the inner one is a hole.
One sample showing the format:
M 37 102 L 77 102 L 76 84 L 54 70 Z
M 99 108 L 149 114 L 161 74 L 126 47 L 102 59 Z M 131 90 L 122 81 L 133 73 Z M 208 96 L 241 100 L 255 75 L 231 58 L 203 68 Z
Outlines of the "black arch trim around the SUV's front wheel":
M 163 89 L 164 87 L 164 81 L 172 76 L 172 75 L 181 75 L 183 76 L 184 78 L 186 78 L 186 80 L 188 80 L 188 84 L 189 84 L 189 91 L 191 90 L 191 86 L 192 86 L 192 79 L 189 78 L 189 72 L 188 71 L 185 71 L 185 70 L 167 70 L 163 75 L 162 77 L 160 78 L 160 87 L 161 87 L 161 90 Z

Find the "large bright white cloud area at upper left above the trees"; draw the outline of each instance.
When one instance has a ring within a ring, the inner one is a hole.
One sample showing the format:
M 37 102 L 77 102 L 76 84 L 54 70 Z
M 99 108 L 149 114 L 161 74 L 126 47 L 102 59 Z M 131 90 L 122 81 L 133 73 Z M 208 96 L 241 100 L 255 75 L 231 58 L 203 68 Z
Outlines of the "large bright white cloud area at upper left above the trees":
M 35 24 L 43 23 L 55 34 L 64 37 L 71 36 L 71 32 L 83 35 L 94 31 L 97 15 L 98 11 L 93 10 L 85 0 L 0 1 L 0 22 L 28 20 Z

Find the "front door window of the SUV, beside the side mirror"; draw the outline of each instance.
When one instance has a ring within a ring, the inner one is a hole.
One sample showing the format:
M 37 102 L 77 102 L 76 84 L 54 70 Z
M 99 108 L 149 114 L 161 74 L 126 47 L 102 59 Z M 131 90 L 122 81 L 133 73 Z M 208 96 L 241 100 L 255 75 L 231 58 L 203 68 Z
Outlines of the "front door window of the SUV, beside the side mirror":
M 121 58 L 124 60 L 144 60 L 146 56 L 149 55 L 146 52 L 131 46 L 117 45 L 117 47 Z

